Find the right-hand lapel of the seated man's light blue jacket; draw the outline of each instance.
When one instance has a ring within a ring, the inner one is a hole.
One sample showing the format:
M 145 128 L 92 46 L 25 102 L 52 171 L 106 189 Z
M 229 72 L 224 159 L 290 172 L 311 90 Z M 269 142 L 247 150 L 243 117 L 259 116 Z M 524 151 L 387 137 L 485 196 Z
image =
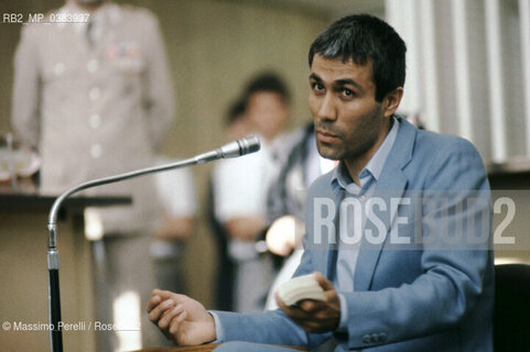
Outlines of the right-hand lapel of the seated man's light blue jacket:
M 387 205 L 387 209 L 389 209 L 388 217 L 380 217 L 380 220 L 385 223 L 386 228 L 385 240 L 368 241 L 367 237 L 363 235 L 354 277 L 354 289 L 356 292 L 370 289 L 377 262 L 381 254 L 381 249 L 385 245 L 385 242 L 388 241 L 389 232 L 399 208 L 398 202 L 391 202 L 390 198 L 401 197 L 408 185 L 408 177 L 403 173 L 403 168 L 412 158 L 417 130 L 405 120 L 399 119 L 399 121 L 400 127 L 396 142 L 387 157 L 374 193 L 374 197 L 382 198 Z M 377 233 L 378 231 L 378 229 L 369 221 L 366 223 L 365 234 L 366 230 L 371 230 L 372 233 Z

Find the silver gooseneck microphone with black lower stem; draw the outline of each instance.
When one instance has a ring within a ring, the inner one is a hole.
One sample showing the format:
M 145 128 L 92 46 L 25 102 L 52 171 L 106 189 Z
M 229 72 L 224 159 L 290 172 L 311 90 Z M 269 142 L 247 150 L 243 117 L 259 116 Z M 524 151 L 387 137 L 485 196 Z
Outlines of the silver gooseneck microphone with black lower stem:
M 48 270 L 48 318 L 50 318 L 50 351 L 63 352 L 63 331 L 60 327 L 61 322 L 61 294 L 58 284 L 58 250 L 57 250 L 57 215 L 61 205 L 69 196 L 80 190 L 93 188 L 97 186 L 108 185 L 134 178 L 148 174 L 154 174 L 175 169 L 192 165 L 202 165 L 219 158 L 238 157 L 245 154 L 255 153 L 259 151 L 260 143 L 256 135 L 247 136 L 241 140 L 230 142 L 216 150 L 199 154 L 197 156 L 186 158 L 176 163 L 166 164 L 162 166 L 154 166 L 133 170 L 116 176 L 98 178 L 74 186 L 55 199 L 48 216 L 48 242 L 47 242 L 47 270 Z

